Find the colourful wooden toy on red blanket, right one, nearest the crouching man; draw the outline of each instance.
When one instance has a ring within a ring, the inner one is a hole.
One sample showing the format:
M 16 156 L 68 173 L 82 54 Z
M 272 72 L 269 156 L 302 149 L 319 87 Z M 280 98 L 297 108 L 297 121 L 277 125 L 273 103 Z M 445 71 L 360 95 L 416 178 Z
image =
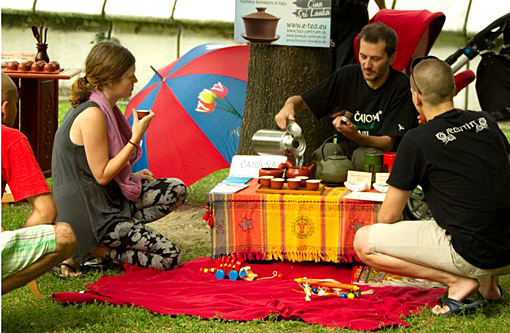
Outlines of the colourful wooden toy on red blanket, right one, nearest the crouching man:
M 361 291 L 358 286 L 353 284 L 341 283 L 333 279 L 294 279 L 301 290 L 292 289 L 294 292 L 305 294 L 305 300 L 311 301 L 312 295 L 315 296 L 335 296 L 340 298 L 354 299 L 361 295 L 373 294 L 373 289 Z

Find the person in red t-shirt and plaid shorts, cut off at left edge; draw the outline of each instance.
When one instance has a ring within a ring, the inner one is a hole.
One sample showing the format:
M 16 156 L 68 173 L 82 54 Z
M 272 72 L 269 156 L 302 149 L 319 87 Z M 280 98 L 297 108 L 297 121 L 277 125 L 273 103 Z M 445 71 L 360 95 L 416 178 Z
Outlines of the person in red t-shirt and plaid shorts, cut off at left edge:
M 23 228 L 1 233 L 2 295 L 70 257 L 76 242 L 67 223 L 54 223 L 57 210 L 30 144 L 10 127 L 17 103 L 17 88 L 2 73 L 2 195 L 8 184 L 16 201 L 26 199 L 32 205 Z

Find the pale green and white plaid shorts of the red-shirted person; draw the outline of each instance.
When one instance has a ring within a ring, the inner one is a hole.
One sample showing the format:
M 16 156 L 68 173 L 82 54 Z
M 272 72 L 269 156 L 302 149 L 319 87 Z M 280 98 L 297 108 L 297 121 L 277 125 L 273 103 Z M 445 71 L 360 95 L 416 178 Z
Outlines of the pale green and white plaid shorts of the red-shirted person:
M 42 256 L 55 252 L 55 228 L 38 225 L 1 233 L 2 281 L 30 266 Z

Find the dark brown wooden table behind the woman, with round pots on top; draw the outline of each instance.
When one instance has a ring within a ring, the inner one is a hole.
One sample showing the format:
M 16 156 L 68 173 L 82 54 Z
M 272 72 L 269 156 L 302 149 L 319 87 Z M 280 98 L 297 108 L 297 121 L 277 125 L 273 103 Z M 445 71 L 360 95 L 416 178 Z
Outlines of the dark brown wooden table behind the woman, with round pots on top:
M 58 127 L 58 80 L 69 80 L 81 69 L 65 68 L 49 74 L 5 72 L 20 92 L 16 124 L 27 136 L 44 175 L 50 177 L 53 140 Z

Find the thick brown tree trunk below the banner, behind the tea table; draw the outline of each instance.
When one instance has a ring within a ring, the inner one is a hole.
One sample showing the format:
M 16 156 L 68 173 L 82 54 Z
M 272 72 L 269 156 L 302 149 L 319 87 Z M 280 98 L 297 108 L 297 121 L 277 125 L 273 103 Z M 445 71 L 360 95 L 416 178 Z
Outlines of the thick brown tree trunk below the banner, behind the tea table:
M 251 145 L 253 134 L 259 129 L 277 129 L 274 116 L 285 100 L 304 93 L 331 71 L 331 52 L 328 48 L 251 44 L 243 125 L 237 153 L 255 154 Z M 312 152 L 333 134 L 331 120 L 318 121 L 309 110 L 303 110 L 296 115 L 296 122 L 301 126 L 306 140 L 304 165 L 309 165 Z

